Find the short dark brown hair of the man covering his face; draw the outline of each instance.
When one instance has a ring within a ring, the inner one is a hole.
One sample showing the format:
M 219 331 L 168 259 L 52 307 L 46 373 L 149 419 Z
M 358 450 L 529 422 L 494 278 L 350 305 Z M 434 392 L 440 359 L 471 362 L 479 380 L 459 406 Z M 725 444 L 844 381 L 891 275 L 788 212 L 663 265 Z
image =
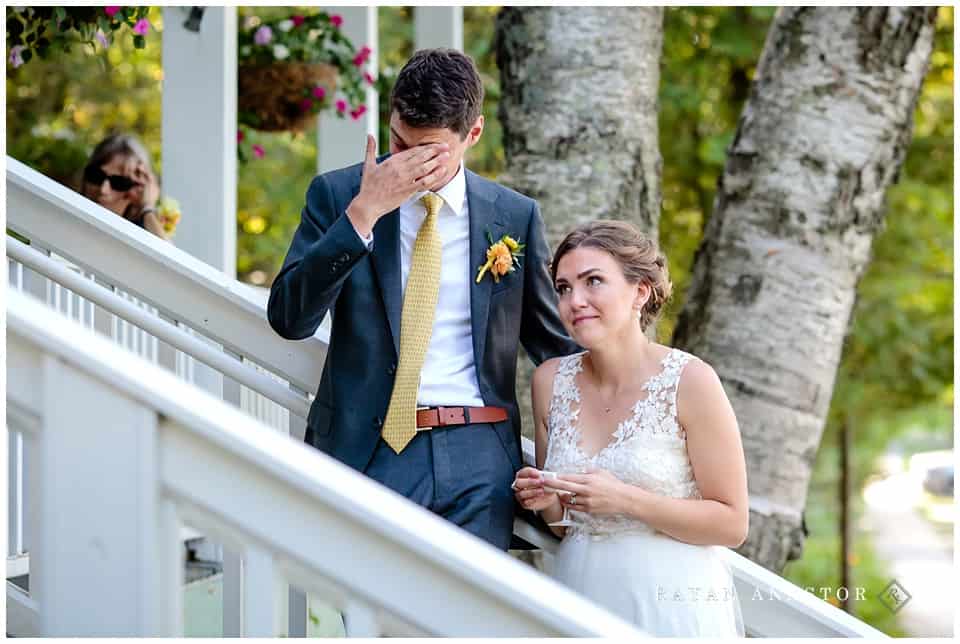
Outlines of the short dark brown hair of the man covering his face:
M 447 128 L 462 141 L 480 116 L 483 82 L 456 49 L 421 49 L 397 75 L 390 109 L 410 127 Z

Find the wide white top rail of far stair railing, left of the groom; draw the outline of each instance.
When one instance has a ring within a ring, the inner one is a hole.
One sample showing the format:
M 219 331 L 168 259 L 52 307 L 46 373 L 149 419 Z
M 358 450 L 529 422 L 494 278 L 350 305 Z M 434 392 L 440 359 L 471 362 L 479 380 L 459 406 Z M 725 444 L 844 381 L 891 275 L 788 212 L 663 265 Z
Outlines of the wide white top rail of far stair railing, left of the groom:
M 8 156 L 7 226 L 149 302 L 297 389 L 316 390 L 329 340 L 300 342 L 270 328 L 250 287 Z M 203 213 L 185 216 L 201 217 Z

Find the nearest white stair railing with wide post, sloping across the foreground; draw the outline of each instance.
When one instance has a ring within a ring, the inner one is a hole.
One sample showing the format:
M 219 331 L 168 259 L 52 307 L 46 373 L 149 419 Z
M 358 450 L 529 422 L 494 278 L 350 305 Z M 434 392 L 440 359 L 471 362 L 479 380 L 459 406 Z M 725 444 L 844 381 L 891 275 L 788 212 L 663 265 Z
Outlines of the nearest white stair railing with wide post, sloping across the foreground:
M 30 296 L 9 294 L 7 329 L 8 423 L 39 473 L 37 634 L 179 635 L 185 522 L 244 553 L 245 636 L 286 634 L 289 583 L 371 636 L 643 636 Z

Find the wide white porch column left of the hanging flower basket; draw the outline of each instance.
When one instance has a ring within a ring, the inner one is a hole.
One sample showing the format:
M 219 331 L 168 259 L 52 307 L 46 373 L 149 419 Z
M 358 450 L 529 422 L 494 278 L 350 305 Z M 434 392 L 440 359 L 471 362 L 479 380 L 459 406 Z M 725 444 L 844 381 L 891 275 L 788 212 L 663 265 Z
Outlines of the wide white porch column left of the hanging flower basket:
M 163 10 L 163 192 L 180 201 L 175 243 L 237 272 L 237 9 Z

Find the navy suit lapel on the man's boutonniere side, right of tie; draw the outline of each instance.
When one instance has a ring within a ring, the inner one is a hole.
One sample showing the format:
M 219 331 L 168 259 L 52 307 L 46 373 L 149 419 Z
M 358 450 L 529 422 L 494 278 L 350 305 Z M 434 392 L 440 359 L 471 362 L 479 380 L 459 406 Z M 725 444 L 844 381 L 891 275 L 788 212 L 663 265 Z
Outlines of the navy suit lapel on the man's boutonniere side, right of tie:
M 490 315 L 490 294 L 493 278 L 484 275 L 477 283 L 477 271 L 487 261 L 490 240 L 504 234 L 504 222 L 494 208 L 497 194 L 487 188 L 474 173 L 467 171 L 467 207 L 470 216 L 470 320 L 473 328 L 473 359 L 480 376 L 481 356 L 486 345 L 487 321 Z

